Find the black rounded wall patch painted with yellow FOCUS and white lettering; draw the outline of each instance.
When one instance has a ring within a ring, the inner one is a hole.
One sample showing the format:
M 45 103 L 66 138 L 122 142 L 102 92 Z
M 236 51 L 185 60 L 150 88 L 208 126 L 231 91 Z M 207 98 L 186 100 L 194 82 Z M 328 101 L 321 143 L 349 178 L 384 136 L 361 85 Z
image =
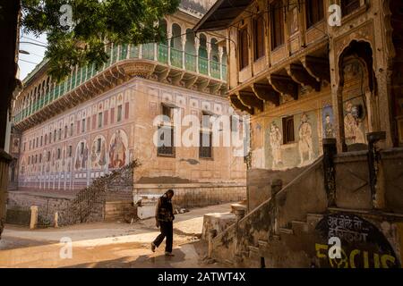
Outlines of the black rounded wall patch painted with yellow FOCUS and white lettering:
M 339 238 L 340 257 L 330 258 L 328 241 Z M 382 231 L 354 214 L 328 214 L 315 228 L 315 257 L 325 268 L 399 268 Z

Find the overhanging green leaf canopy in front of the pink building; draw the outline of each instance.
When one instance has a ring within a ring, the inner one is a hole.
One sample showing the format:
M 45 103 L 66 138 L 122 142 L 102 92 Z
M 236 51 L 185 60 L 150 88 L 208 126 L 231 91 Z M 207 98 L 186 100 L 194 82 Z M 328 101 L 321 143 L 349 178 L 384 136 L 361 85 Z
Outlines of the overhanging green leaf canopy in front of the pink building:
M 21 0 L 21 28 L 47 33 L 49 71 L 62 80 L 75 65 L 107 62 L 110 43 L 159 42 L 156 23 L 175 13 L 180 0 Z M 68 4 L 69 6 L 65 6 Z M 67 24 L 66 24 L 67 23 Z

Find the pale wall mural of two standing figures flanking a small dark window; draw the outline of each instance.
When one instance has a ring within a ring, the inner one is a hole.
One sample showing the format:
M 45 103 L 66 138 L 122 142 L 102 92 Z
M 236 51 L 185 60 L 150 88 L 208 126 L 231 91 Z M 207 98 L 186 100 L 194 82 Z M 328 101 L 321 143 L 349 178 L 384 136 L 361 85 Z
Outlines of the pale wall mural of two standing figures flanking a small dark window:
M 319 134 L 317 113 L 295 114 L 293 141 L 284 144 L 281 118 L 271 119 L 265 130 L 265 167 L 271 170 L 312 164 L 319 155 Z

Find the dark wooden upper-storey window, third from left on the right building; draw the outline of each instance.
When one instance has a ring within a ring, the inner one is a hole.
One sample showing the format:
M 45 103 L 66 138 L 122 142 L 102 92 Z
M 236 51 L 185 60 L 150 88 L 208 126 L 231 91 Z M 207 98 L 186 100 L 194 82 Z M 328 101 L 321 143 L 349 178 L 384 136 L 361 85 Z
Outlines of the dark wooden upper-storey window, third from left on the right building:
M 270 4 L 271 49 L 284 44 L 284 14 L 282 0 Z

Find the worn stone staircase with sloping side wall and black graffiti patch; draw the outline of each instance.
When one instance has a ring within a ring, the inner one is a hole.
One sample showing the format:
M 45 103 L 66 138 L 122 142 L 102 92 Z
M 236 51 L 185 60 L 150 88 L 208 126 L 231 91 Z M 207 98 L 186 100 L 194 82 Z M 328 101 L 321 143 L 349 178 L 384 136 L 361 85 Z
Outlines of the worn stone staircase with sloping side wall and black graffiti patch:
M 347 156 L 343 155 L 344 168 L 354 171 L 358 167 L 362 172 L 365 165 L 357 166 L 356 157 L 352 157 L 354 160 L 349 163 Z M 382 167 L 387 167 L 385 162 Z M 247 214 L 243 214 L 242 205 L 232 206 L 236 223 L 215 237 L 210 236 L 210 257 L 234 267 L 399 267 L 399 253 L 403 248 L 403 211 L 396 212 L 395 208 L 388 212 L 388 206 L 377 209 L 376 202 L 367 208 L 363 208 L 359 201 L 356 203 L 359 207 L 338 206 L 347 199 L 339 194 L 346 194 L 347 188 L 354 188 L 354 184 L 343 181 L 349 180 L 345 172 L 339 172 L 341 177 L 334 175 L 334 169 L 339 170 L 339 166 L 332 169 L 334 177 L 330 178 L 329 163 L 324 157 L 319 158 L 286 186 L 282 186 L 281 181 L 271 181 L 271 197 Z M 368 184 L 360 188 L 355 191 L 370 193 Z M 384 192 L 391 191 L 399 189 Z M 362 233 L 357 231 L 356 236 L 364 235 L 367 240 L 343 244 L 342 249 L 349 257 L 341 262 L 330 261 L 326 257 L 328 252 L 323 250 L 330 247 L 330 226 L 328 232 L 318 227 L 327 226 L 334 217 L 345 216 L 350 221 L 359 219 L 360 225 L 366 223 Z M 364 258 L 358 258 L 358 254 Z

